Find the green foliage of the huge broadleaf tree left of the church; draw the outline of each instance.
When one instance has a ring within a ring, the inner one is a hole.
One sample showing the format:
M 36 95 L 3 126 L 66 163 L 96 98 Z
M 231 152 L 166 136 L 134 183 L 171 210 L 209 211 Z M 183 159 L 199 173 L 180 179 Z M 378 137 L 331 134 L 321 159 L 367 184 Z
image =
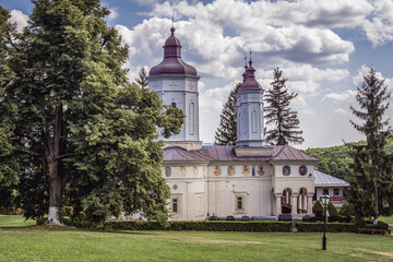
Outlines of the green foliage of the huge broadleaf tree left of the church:
M 17 112 L 0 148 L 13 146 L 24 215 L 43 217 L 48 205 L 67 204 L 79 221 L 121 212 L 166 219 L 169 188 L 157 127 L 165 138 L 178 132 L 181 110 L 129 83 L 122 69 L 128 48 L 107 27 L 109 12 L 99 0 L 34 4 L 31 26 L 13 36 L 14 80 L 0 94 L 0 107 Z

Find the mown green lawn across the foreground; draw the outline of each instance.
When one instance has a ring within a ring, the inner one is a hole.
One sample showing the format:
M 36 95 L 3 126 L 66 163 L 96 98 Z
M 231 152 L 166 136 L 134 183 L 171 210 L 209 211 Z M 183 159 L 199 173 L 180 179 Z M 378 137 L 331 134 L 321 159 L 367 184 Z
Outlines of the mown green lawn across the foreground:
M 1 227 L 0 261 L 393 261 L 392 236 L 326 236 Z

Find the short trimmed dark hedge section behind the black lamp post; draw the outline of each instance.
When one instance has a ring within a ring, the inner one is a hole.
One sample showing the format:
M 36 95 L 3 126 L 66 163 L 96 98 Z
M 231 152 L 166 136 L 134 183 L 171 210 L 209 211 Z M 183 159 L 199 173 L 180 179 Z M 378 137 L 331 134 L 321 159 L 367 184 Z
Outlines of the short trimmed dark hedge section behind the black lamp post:
M 323 231 L 323 223 L 306 223 L 298 222 L 296 223 L 298 231 L 303 233 L 315 233 Z M 353 223 L 327 223 L 326 225 L 327 233 L 355 233 L 356 227 Z

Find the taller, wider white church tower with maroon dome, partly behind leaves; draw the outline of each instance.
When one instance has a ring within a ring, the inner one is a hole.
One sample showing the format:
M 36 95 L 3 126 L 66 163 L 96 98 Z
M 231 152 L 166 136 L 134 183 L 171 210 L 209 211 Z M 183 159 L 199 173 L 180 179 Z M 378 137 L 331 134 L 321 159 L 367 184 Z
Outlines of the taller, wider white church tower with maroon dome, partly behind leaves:
M 187 150 L 195 148 L 192 142 L 202 145 L 199 136 L 199 79 L 195 68 L 181 59 L 181 45 L 172 26 L 165 41 L 164 60 L 153 67 L 147 76 L 148 88 L 156 91 L 164 104 L 180 108 L 186 115 L 178 134 L 162 138 L 166 145 L 183 144 Z

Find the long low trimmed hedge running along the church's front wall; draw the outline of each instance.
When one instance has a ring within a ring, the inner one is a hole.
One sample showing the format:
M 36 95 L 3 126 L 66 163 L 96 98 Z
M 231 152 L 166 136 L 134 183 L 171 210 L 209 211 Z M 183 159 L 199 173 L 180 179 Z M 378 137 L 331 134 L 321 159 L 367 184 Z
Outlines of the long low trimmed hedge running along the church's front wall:
M 171 221 L 165 226 L 158 222 L 110 221 L 105 222 L 103 228 L 112 230 L 291 231 L 291 222 Z

